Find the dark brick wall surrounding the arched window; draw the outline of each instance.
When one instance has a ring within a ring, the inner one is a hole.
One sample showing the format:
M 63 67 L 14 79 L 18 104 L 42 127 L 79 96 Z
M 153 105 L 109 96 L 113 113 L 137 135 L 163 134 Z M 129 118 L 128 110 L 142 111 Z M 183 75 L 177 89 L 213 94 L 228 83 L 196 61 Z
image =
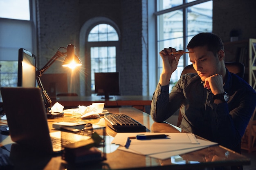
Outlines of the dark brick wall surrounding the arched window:
M 39 66 L 42 67 L 60 46 L 72 43 L 79 53 L 77 47 L 81 26 L 91 18 L 104 16 L 113 20 L 121 31 L 121 52 L 117 56 L 121 94 L 142 95 L 143 89 L 147 88 L 146 44 L 141 38 L 142 32 L 144 38 L 147 37 L 147 28 L 145 19 L 142 26 L 142 2 L 145 10 L 146 0 L 37 0 Z M 144 17 L 147 17 L 145 11 Z M 47 73 L 63 71 L 68 73 L 61 68 L 61 62 L 55 62 Z M 71 91 L 79 93 L 79 75 L 74 79 L 76 81 L 69 82 L 73 87 Z

